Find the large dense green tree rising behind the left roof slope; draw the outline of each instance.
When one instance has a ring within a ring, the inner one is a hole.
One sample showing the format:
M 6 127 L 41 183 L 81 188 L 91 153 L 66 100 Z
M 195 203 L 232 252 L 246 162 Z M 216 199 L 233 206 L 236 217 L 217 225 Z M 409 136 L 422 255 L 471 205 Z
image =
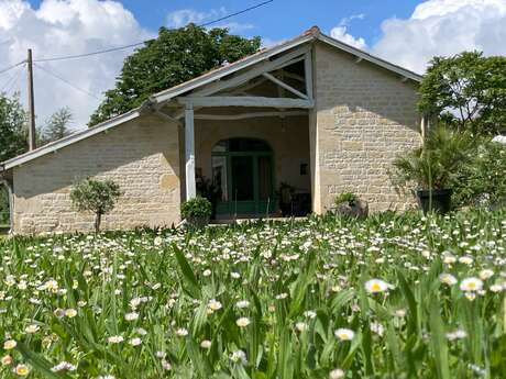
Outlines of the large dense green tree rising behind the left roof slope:
M 195 24 L 161 27 L 157 38 L 124 60 L 116 88 L 106 92 L 89 125 L 141 105 L 153 93 L 255 53 L 260 45 L 260 37 L 243 38 L 229 34 L 227 29 L 206 30 Z

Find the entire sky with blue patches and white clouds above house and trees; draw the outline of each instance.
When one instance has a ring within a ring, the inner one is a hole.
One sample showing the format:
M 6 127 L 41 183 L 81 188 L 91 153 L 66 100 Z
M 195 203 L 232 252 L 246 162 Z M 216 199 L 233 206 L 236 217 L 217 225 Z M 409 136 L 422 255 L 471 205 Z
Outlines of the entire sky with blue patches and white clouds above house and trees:
M 147 40 L 160 26 L 208 22 L 262 0 L 0 0 L 0 69 L 34 57 L 79 55 Z M 422 74 L 433 56 L 506 54 L 506 0 L 274 0 L 221 22 L 271 45 L 312 25 L 337 40 Z M 114 86 L 133 49 L 35 67 L 37 122 L 70 108 L 75 129 Z M 47 70 L 53 73 L 51 76 Z M 64 78 L 57 79 L 56 76 Z M 24 101 L 23 67 L 0 75 L 0 90 Z M 69 86 L 68 83 L 72 83 Z

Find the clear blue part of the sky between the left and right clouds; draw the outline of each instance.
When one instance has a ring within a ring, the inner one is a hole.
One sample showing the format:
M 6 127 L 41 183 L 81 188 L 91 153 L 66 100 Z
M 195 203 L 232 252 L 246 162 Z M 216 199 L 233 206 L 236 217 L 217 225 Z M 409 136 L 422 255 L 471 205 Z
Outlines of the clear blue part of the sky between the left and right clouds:
M 37 8 L 42 0 L 30 1 Z M 142 26 L 156 31 L 167 25 L 167 14 L 182 9 L 210 13 L 212 10 L 224 9 L 228 13 L 254 5 L 260 0 L 127 0 L 121 1 L 130 10 Z M 421 1 L 415 0 L 274 0 L 272 3 L 235 16 L 227 22 L 249 24 L 252 27 L 239 31 L 240 34 L 260 35 L 273 41 L 289 38 L 312 25 L 320 26 L 324 32 L 339 24 L 342 19 L 363 14 L 363 19 L 354 19 L 349 31 L 372 44 L 381 36 L 381 23 L 389 18 L 408 18 Z

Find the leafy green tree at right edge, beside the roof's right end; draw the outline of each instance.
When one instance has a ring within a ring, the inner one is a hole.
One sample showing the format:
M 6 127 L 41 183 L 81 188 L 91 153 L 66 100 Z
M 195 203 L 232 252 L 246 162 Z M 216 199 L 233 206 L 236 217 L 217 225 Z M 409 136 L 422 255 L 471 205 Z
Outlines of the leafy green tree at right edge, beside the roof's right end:
M 506 131 L 506 57 L 465 52 L 435 57 L 420 87 L 419 109 L 458 131 Z

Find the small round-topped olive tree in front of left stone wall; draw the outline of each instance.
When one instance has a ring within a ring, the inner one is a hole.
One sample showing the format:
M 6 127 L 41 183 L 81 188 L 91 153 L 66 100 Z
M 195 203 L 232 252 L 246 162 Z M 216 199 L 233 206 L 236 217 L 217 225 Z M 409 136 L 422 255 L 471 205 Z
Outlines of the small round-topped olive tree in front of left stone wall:
M 74 185 L 70 199 L 79 212 L 95 213 L 95 232 L 100 232 L 102 215 L 114 209 L 121 196 L 120 187 L 112 180 L 87 178 Z

